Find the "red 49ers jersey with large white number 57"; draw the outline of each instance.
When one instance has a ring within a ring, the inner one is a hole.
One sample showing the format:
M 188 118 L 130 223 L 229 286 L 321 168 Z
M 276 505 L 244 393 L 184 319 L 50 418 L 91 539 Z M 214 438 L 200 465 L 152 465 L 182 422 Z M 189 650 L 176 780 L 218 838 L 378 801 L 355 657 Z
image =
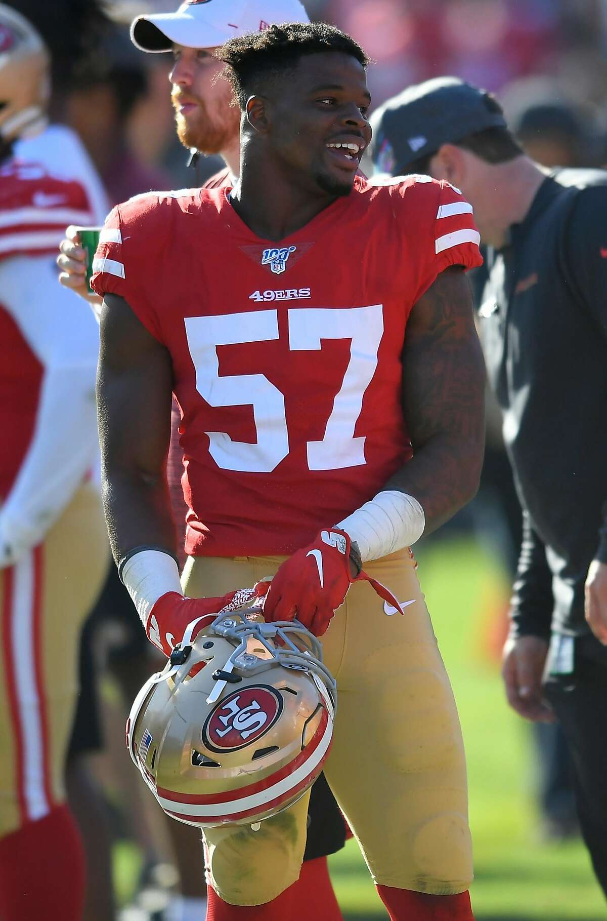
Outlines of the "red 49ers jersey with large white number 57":
M 124 297 L 173 361 L 193 555 L 291 554 L 412 454 L 407 318 L 449 265 L 481 263 L 445 182 L 357 178 L 280 244 L 229 188 L 151 192 L 109 215 L 93 286 Z

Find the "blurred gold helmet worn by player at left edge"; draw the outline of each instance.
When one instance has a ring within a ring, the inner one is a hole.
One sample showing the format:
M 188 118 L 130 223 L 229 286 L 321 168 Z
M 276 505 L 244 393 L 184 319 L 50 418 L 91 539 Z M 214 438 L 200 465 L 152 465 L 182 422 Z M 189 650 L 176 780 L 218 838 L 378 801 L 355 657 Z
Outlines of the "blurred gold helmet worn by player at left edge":
M 51 58 L 40 34 L 0 3 L 0 138 L 40 134 L 51 96 Z

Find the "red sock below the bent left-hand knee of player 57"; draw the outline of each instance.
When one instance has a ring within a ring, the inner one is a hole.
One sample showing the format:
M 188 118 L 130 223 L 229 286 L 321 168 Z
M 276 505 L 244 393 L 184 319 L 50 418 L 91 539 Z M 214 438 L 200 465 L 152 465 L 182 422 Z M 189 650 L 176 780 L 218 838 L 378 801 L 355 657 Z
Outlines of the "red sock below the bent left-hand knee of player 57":
M 228 905 L 209 888 L 207 921 L 342 921 L 326 857 L 306 860 L 299 880 L 265 905 Z

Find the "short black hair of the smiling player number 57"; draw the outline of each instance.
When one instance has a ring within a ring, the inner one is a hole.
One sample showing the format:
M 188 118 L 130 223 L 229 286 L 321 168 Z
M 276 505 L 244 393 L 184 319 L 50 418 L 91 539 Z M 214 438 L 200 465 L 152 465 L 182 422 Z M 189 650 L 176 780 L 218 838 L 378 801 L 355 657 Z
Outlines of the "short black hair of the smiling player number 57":
M 261 32 L 226 41 L 215 52 L 225 64 L 225 76 L 232 84 L 241 109 L 259 83 L 292 70 L 300 58 L 318 52 L 342 52 L 366 68 L 369 58 L 358 42 L 325 22 L 292 22 L 270 26 Z

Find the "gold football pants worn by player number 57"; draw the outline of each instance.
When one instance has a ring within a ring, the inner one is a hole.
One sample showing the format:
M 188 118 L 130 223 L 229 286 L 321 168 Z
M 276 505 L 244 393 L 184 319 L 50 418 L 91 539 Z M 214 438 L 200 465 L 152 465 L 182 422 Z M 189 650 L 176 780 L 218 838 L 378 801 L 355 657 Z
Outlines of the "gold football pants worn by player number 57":
M 184 590 L 194 598 L 222 595 L 273 575 L 281 562 L 190 558 Z M 357 582 L 322 637 L 338 682 L 326 779 L 376 884 L 464 892 L 473 877 L 464 744 L 415 561 L 406 550 L 365 569 L 407 606 L 396 614 Z M 225 902 L 265 904 L 298 879 L 308 799 L 257 832 L 204 830 L 208 878 Z

